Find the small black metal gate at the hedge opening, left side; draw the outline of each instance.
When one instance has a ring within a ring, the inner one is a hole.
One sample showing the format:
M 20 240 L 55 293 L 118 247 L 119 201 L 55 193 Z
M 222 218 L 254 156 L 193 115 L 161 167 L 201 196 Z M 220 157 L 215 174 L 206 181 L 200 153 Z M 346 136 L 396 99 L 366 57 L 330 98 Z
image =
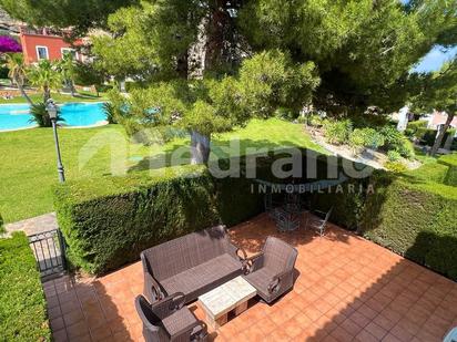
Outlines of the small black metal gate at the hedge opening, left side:
M 65 271 L 65 243 L 59 229 L 31 235 L 29 242 L 41 277 L 61 274 Z

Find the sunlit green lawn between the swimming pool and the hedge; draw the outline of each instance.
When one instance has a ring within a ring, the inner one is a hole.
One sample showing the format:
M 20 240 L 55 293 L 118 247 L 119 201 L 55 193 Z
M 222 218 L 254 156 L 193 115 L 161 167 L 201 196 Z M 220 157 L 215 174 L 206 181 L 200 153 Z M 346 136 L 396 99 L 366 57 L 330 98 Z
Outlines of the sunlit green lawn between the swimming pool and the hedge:
M 161 156 L 169 157 L 177 147 L 189 145 L 186 138 L 174 139 L 165 145 L 132 144 L 120 125 L 62 128 L 59 134 L 68 179 L 160 167 Z M 311 142 L 302 125 L 271 118 L 254 120 L 244 128 L 214 136 L 212 157 L 226 156 L 227 152 L 223 147 L 228 146 L 234 138 L 240 141 L 241 154 L 247 147 L 284 146 L 324 152 Z M 0 133 L 0 213 L 7 222 L 52 211 L 51 187 L 57 179 L 50 128 Z

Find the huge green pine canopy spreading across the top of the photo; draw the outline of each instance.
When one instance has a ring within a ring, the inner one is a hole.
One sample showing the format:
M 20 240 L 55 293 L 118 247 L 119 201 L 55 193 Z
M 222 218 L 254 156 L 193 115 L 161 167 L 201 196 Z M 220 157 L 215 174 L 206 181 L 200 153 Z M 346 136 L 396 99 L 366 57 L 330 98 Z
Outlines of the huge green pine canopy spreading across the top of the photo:
M 32 23 L 104 27 L 92 35 L 94 68 L 142 87 L 124 122 L 179 125 L 196 146 L 254 115 L 312 101 L 331 114 L 398 110 L 420 80 L 412 68 L 457 41 L 457 0 L 0 3 Z

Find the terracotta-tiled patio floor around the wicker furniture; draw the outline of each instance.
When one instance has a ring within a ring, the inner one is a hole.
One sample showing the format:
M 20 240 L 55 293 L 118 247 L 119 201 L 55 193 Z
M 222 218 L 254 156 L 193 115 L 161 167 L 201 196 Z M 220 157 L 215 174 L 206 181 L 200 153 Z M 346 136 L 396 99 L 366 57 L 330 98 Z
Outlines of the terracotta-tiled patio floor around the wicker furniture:
M 250 252 L 268 235 L 298 249 L 294 290 L 272 307 L 252 302 L 211 331 L 216 341 L 433 342 L 457 325 L 457 283 L 385 248 L 337 227 L 325 238 L 277 234 L 265 215 L 231 229 Z M 140 262 L 95 281 L 44 283 L 55 341 L 143 341 L 133 304 L 142 287 Z

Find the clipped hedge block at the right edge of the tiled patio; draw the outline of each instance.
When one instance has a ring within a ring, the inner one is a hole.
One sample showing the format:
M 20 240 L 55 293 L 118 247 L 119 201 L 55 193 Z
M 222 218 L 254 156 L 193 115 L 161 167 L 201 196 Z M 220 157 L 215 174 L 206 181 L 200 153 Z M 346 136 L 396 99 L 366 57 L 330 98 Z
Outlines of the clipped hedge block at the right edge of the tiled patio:
M 389 174 L 373 177 L 363 231 L 373 241 L 457 280 L 457 191 Z

